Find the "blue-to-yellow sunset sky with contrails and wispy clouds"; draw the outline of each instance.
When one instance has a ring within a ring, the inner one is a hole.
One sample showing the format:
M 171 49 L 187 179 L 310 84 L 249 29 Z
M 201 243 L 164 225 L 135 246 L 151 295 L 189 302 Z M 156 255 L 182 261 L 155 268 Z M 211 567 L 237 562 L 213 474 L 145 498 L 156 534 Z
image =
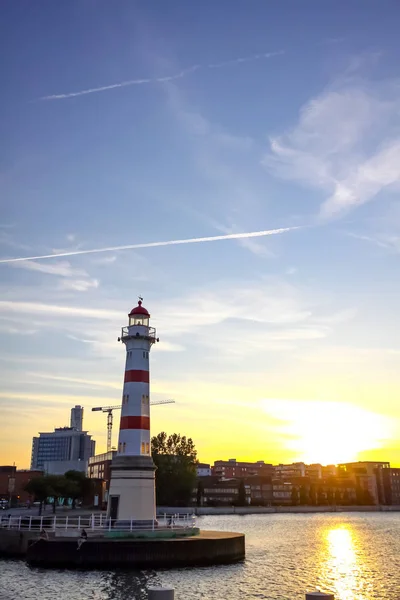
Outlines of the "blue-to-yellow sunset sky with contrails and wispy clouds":
M 142 295 L 153 434 L 400 466 L 399 3 L 0 10 L 0 464 L 105 451 Z

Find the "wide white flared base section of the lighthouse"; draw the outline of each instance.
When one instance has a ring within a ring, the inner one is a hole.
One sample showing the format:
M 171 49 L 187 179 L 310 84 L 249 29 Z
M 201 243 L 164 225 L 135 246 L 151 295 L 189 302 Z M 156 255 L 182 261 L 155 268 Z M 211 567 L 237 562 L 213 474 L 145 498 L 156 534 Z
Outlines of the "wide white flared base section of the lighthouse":
M 107 515 L 117 522 L 135 525 L 156 518 L 156 467 L 150 456 L 116 456 L 111 463 Z

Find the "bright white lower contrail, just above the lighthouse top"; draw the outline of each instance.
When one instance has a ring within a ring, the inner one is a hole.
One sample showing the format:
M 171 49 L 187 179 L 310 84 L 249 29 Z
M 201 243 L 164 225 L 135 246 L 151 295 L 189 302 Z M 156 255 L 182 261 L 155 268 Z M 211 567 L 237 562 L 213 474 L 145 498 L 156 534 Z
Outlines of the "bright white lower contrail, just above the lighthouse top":
M 43 254 L 41 256 L 24 256 L 21 258 L 2 258 L 0 263 L 14 263 L 24 260 L 43 260 L 45 258 L 61 258 L 63 256 L 78 256 L 80 254 L 98 254 L 99 252 L 116 252 L 118 250 L 137 250 L 138 248 L 158 248 L 160 246 L 178 246 L 179 244 L 199 244 L 201 242 L 218 242 L 220 240 L 240 240 L 243 238 L 264 237 L 278 235 L 287 231 L 302 229 L 302 227 L 281 227 L 280 229 L 266 229 L 264 231 L 250 231 L 248 233 L 229 233 L 226 235 L 213 235 L 186 240 L 169 240 L 166 242 L 147 242 L 144 244 L 128 244 L 127 246 L 110 246 L 108 248 L 93 248 L 92 250 L 72 250 L 71 252 L 58 252 L 57 254 Z

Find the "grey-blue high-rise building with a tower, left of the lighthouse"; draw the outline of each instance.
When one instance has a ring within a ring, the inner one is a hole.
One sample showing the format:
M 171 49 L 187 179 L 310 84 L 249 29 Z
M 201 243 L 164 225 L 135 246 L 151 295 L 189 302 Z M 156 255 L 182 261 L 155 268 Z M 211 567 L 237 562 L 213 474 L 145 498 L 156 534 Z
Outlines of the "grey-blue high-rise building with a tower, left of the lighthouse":
M 71 410 L 71 423 L 74 418 L 79 429 L 58 427 L 33 438 L 31 469 L 57 475 L 69 470 L 86 472 L 89 458 L 95 454 L 96 442 L 87 431 L 82 431 L 82 415 L 83 408 L 80 406 Z

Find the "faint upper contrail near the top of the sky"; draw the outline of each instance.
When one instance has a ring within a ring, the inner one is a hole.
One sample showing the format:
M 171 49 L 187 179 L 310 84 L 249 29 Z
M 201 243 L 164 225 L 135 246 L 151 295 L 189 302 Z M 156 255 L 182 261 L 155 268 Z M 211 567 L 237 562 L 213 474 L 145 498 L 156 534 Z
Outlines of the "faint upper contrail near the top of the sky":
M 128 81 L 121 81 L 119 83 L 113 83 L 111 85 L 104 85 L 97 88 L 89 88 L 87 90 L 80 90 L 78 92 L 70 92 L 67 94 L 52 94 L 50 96 L 42 96 L 39 100 L 65 100 L 66 98 L 76 98 L 77 96 L 86 96 L 87 94 L 96 94 L 97 92 L 106 92 L 107 90 L 114 90 L 116 88 L 128 87 L 130 85 L 145 85 L 151 83 L 167 83 L 168 81 L 174 81 L 175 79 L 182 79 L 195 71 L 200 69 L 222 69 L 230 65 L 235 65 L 244 62 L 251 62 L 255 60 L 261 60 L 266 58 L 272 58 L 273 56 L 279 56 L 284 54 L 283 50 L 278 52 L 264 52 L 262 54 L 251 54 L 250 56 L 243 56 L 239 58 L 233 58 L 219 63 L 210 63 L 208 65 L 193 65 L 187 69 L 183 69 L 175 75 L 169 75 L 167 77 L 151 77 L 145 79 L 130 79 Z

